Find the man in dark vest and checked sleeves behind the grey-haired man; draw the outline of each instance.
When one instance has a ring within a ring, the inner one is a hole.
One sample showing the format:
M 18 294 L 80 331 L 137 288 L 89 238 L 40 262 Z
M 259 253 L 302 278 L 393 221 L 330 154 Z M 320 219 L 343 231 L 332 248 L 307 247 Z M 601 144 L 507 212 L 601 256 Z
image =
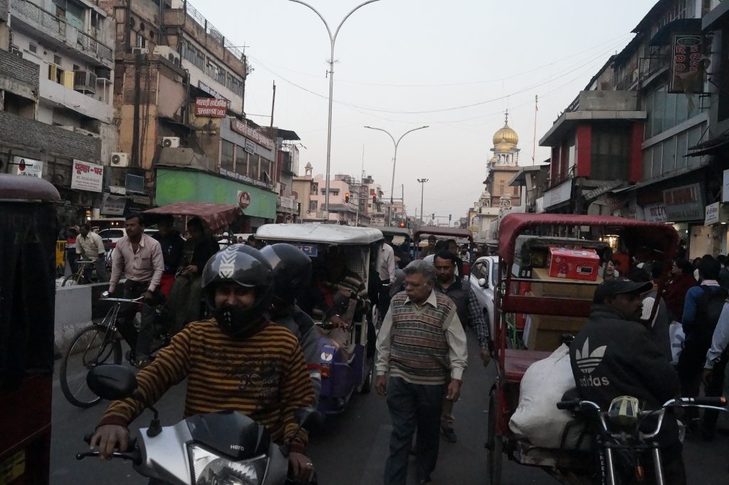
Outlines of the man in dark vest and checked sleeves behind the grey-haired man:
M 491 338 L 488 335 L 488 325 L 483 319 L 483 311 L 481 311 L 476 300 L 476 295 L 468 284 L 463 283 L 463 279 L 456 278 L 456 263 L 458 256 L 450 251 L 437 252 L 433 265 L 437 275 L 435 283 L 435 291 L 451 298 L 456 303 L 456 311 L 458 317 L 464 326 L 473 327 L 476 330 L 478 344 L 480 346 L 480 356 L 483 365 L 488 365 L 491 361 L 491 352 L 489 345 Z M 443 400 L 443 413 L 440 416 L 440 430 L 443 437 L 448 443 L 456 443 L 458 438 L 456 432 L 453 431 L 453 400 Z

